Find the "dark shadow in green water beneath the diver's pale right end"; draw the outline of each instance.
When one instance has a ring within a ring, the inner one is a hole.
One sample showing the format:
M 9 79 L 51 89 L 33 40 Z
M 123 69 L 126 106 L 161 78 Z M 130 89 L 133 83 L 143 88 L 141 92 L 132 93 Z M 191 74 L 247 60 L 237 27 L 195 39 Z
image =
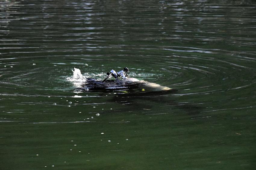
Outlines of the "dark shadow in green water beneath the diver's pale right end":
M 142 87 L 140 87 L 142 88 Z M 169 89 L 161 91 L 140 91 L 140 88 L 133 89 L 128 93 L 117 93 L 111 101 L 118 104 L 126 105 L 130 108 L 141 110 L 142 108 L 152 109 L 154 114 L 171 113 L 172 109 L 181 109 L 188 115 L 198 115 L 201 112 L 201 107 L 191 103 L 180 103 L 174 100 L 172 94 L 178 93 L 178 89 Z M 161 105 L 159 105 L 161 104 Z M 161 106 L 161 108 L 155 108 Z

